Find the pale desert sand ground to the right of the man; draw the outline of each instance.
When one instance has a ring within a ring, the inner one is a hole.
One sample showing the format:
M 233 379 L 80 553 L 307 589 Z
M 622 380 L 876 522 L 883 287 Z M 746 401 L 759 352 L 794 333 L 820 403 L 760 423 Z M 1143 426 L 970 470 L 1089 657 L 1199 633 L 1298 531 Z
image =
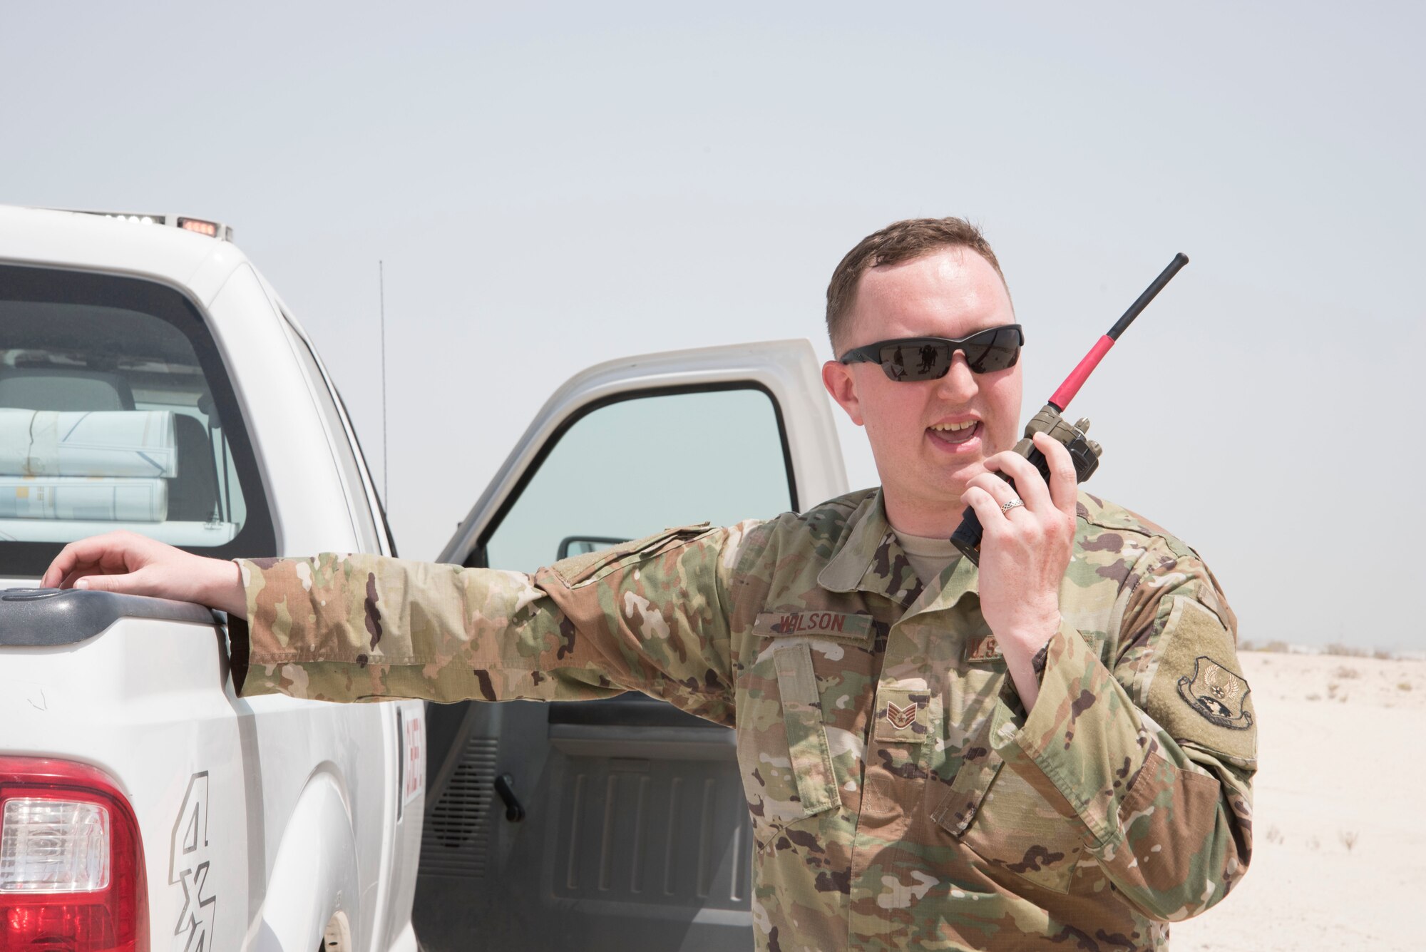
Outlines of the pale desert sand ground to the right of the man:
M 1171 948 L 1426 949 L 1426 661 L 1239 658 L 1259 723 L 1252 866 Z

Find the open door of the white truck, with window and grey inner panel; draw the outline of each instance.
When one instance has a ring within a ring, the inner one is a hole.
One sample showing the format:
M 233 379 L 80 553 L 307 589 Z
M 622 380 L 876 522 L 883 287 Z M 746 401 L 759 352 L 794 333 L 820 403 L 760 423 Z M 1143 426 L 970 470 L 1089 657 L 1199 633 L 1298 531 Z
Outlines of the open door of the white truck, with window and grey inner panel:
M 846 490 L 806 341 L 630 358 L 549 399 L 441 562 L 533 571 Z M 637 693 L 428 718 L 412 914 L 426 949 L 752 948 L 733 731 Z

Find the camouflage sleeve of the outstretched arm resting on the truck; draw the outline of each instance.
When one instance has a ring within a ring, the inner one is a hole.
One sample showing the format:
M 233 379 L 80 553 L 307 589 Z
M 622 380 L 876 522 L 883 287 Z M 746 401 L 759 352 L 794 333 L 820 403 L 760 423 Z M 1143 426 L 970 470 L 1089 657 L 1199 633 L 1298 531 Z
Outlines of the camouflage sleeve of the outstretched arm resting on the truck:
M 670 529 L 533 576 L 381 556 L 240 560 L 248 623 L 232 626 L 234 681 L 244 695 L 328 701 L 637 690 L 732 724 L 724 599 L 746 527 Z

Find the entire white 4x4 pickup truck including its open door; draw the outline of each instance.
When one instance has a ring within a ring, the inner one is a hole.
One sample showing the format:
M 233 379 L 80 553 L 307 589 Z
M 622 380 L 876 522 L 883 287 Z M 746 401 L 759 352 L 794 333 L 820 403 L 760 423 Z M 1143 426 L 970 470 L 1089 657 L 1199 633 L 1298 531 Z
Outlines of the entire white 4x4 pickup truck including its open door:
M 439 560 L 533 570 L 846 489 L 806 341 L 629 358 L 550 398 Z M 207 610 L 26 590 L 117 527 L 394 554 L 222 224 L 0 208 L 0 949 L 750 948 L 732 731 L 635 694 L 238 698 Z

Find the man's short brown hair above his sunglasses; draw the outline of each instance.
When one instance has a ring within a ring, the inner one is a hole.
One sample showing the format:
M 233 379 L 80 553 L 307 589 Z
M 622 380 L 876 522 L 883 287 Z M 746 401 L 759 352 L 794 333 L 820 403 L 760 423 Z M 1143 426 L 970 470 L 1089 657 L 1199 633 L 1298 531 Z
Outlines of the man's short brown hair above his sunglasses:
M 985 235 L 964 218 L 907 218 L 891 222 L 858 241 L 831 272 L 831 284 L 827 285 L 827 336 L 831 339 L 833 356 L 837 356 L 838 339 L 847 332 L 861 275 L 877 265 L 911 261 L 938 248 L 970 248 L 990 262 L 1001 284 L 1005 282 L 1005 272 L 1000 269 Z M 1010 294 L 1010 285 L 1005 285 L 1005 294 Z

